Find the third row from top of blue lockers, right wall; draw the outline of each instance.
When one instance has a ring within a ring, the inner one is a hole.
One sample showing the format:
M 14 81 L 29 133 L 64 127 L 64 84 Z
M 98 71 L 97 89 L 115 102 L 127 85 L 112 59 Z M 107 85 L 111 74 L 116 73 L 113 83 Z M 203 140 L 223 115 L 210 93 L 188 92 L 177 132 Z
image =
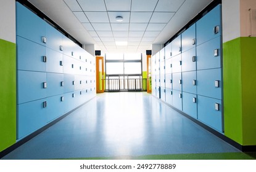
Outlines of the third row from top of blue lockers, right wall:
M 222 99 L 221 69 L 161 74 L 153 78 L 157 87 Z

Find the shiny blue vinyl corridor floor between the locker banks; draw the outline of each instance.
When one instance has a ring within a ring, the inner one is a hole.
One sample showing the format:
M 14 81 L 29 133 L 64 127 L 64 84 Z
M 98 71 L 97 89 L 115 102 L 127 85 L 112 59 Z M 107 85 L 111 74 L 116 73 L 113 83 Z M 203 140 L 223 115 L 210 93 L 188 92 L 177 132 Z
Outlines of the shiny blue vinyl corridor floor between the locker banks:
M 145 92 L 103 93 L 2 159 L 240 152 Z

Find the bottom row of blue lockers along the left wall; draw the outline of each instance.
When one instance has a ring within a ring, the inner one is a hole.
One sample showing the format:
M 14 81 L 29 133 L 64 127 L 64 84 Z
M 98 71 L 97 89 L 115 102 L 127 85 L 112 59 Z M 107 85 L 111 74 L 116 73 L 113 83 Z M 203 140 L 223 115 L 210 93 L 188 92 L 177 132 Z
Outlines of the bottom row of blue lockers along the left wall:
M 77 90 L 18 105 L 17 138 L 33 133 L 52 120 L 93 98 L 95 90 Z

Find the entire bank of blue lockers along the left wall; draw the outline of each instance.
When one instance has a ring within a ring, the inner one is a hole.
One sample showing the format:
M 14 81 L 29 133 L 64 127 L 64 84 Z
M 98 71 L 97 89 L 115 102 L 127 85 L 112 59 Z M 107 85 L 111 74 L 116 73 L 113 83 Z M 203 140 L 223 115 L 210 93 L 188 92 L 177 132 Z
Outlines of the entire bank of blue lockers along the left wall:
M 17 139 L 96 95 L 92 55 L 17 2 Z

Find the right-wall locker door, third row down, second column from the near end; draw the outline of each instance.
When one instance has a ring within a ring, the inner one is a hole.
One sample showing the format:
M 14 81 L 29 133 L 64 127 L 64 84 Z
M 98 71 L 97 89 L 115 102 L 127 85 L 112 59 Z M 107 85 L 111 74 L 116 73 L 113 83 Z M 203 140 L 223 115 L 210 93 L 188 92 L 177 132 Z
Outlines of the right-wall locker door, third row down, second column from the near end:
M 196 94 L 196 71 L 182 73 L 182 90 L 183 92 Z

